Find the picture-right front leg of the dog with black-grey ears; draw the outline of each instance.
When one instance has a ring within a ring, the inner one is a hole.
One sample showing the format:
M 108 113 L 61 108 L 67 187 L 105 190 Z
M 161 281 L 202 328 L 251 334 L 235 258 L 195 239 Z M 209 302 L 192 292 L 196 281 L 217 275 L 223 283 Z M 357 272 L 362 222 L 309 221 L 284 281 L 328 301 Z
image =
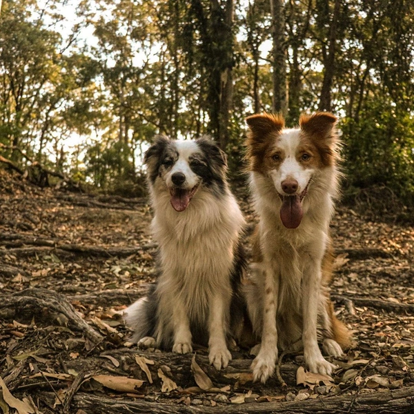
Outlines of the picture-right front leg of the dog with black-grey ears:
M 215 294 L 210 300 L 208 359 L 216 369 L 226 368 L 231 353 L 226 344 L 226 313 L 228 305 L 221 295 Z

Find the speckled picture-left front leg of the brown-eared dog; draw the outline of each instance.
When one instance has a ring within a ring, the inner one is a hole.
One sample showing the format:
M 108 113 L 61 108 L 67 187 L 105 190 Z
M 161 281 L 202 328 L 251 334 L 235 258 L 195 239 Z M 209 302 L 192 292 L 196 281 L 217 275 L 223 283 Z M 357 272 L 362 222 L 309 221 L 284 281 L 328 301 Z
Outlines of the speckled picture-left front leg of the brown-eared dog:
M 263 304 L 263 331 L 260 351 L 255 357 L 251 368 L 253 380 L 266 382 L 273 375 L 277 362 L 277 328 L 276 311 L 279 295 L 279 269 L 264 266 L 264 304 Z

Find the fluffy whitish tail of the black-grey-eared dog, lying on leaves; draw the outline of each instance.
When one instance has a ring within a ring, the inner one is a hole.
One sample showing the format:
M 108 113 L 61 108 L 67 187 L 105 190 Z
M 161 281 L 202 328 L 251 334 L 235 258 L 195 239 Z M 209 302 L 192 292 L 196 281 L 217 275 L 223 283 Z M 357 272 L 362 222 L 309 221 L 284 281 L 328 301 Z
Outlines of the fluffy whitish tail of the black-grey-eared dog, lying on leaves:
M 153 337 L 157 324 L 157 298 L 155 286 L 150 288 L 148 295 L 128 306 L 124 311 L 126 324 L 134 331 L 130 342 L 137 343 L 143 337 Z

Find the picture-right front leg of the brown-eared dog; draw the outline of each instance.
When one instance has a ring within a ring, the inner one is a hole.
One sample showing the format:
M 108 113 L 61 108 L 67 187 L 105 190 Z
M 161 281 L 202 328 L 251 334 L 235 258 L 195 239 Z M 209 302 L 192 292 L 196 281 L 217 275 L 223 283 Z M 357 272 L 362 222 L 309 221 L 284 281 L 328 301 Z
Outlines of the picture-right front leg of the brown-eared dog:
M 311 257 L 302 279 L 302 341 L 305 363 L 312 373 L 331 375 L 335 365 L 326 361 L 317 344 L 317 311 L 320 300 L 321 260 Z

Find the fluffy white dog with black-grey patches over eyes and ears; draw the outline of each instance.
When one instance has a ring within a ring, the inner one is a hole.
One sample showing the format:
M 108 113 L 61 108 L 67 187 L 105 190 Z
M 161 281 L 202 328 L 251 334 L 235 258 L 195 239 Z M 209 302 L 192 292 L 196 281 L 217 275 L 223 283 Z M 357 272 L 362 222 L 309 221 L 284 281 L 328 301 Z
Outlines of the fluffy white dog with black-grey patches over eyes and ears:
M 226 181 L 226 155 L 208 137 L 159 136 L 145 155 L 159 245 L 157 283 L 125 311 L 133 342 L 176 353 L 208 345 L 225 368 L 227 342 L 244 314 L 240 237 L 244 217 Z

